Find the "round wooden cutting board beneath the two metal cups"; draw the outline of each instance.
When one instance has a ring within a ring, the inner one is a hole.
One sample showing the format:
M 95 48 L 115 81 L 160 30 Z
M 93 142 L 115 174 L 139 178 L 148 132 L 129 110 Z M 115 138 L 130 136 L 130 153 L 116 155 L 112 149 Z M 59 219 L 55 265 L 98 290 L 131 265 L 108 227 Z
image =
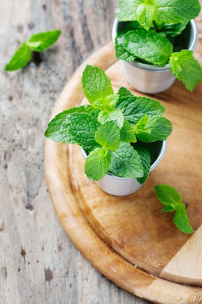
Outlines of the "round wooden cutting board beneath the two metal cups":
M 114 92 L 127 84 L 112 42 L 91 55 L 62 91 L 52 113 L 79 106 L 84 99 L 81 77 L 86 64 L 103 69 Z M 146 95 L 145 95 L 146 96 Z M 148 95 L 149 96 L 149 95 Z M 166 108 L 173 132 L 166 154 L 134 194 L 103 192 L 84 174 L 77 145 L 46 140 L 45 169 L 55 212 L 67 235 L 90 263 L 118 286 L 161 304 L 202 303 L 202 84 L 190 93 L 176 81 L 151 95 Z M 181 233 L 173 213 L 162 211 L 154 187 L 176 188 L 195 233 Z

